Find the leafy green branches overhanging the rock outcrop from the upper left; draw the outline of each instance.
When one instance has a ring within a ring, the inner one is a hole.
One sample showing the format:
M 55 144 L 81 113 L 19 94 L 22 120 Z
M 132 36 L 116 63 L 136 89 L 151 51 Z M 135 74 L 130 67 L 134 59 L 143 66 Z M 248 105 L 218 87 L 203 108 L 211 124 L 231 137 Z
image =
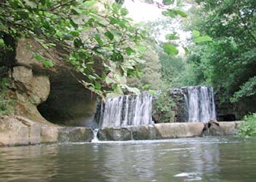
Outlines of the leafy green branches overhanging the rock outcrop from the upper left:
M 29 37 L 46 51 L 61 46 L 67 53 L 64 60 L 85 75 L 81 83 L 101 96 L 106 92 L 103 86 L 114 90 L 120 84 L 115 70 L 121 77 L 137 74 L 140 42 L 146 32 L 132 24 L 128 11 L 120 4 L 96 0 L 8 0 L 0 1 L 0 11 L 0 36 L 4 42 L 8 35 L 15 39 Z M 101 59 L 105 73 L 113 74 L 98 75 L 93 68 L 95 57 Z M 35 59 L 46 67 L 54 66 L 54 60 L 44 58 L 39 50 Z

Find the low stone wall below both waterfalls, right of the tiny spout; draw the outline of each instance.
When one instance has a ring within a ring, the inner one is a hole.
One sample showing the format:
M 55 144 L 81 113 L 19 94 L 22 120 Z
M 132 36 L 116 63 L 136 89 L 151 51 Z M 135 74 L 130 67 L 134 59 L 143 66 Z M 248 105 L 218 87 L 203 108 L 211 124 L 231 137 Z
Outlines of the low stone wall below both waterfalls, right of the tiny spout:
M 174 139 L 181 137 L 230 136 L 238 133 L 242 121 L 220 122 L 219 126 L 211 126 L 205 130 L 204 123 L 158 123 L 154 125 L 139 125 L 126 128 L 101 128 L 99 140 L 154 140 Z

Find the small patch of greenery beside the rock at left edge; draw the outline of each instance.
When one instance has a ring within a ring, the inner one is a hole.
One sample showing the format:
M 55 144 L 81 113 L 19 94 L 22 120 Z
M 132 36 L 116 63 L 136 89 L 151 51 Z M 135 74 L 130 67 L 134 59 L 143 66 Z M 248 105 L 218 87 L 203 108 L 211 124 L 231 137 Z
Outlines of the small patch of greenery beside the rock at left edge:
M 6 95 L 8 85 L 9 82 L 7 78 L 0 80 L 0 118 L 2 118 L 3 115 L 13 112 L 13 101 Z

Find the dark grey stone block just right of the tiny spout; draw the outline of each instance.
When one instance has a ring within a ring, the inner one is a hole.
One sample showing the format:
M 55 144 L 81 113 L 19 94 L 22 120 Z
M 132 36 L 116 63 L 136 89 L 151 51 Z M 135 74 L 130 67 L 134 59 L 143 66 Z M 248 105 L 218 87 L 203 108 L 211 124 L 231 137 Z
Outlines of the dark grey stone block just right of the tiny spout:
M 101 128 L 98 138 L 102 141 L 132 140 L 132 133 L 128 128 Z

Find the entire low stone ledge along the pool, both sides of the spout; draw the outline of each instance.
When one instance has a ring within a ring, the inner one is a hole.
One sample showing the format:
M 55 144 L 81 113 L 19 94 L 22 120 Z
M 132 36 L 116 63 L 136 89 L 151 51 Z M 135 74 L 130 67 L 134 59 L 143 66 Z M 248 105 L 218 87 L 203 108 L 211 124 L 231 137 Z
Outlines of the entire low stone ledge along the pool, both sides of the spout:
M 238 133 L 242 121 L 220 122 L 219 127 L 205 130 L 204 123 L 158 123 L 102 128 L 98 138 L 102 141 L 173 139 L 182 137 L 231 136 Z M 12 116 L 0 120 L 0 146 L 36 145 L 40 143 L 91 142 L 94 135 L 89 127 L 63 127 L 36 123 L 24 117 Z

